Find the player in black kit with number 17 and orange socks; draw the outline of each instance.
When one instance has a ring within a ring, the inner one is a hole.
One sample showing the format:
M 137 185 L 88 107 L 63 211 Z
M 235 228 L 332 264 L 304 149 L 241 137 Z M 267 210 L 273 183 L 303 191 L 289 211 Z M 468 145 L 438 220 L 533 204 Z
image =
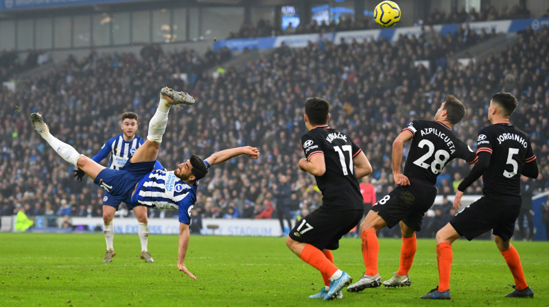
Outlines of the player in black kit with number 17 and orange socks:
M 286 245 L 322 274 L 325 287 L 310 298 L 342 298 L 351 283 L 349 274 L 334 265 L 331 250 L 362 218 L 364 211 L 358 178 L 372 173 L 364 152 L 349 136 L 330 127 L 329 103 L 317 97 L 305 101 L 305 127 L 301 138 L 305 157 L 299 168 L 314 175 L 323 204 L 294 225 Z

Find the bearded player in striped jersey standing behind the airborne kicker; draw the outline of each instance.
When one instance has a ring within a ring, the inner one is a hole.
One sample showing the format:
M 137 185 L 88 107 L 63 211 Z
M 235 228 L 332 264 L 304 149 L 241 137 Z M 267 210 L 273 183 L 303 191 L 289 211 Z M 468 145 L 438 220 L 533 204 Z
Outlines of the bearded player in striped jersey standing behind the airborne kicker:
M 108 167 L 110 169 L 121 169 L 128 159 L 135 153 L 139 146 L 145 143 L 145 140 L 136 134 L 137 132 L 137 120 L 139 116 L 134 112 L 124 112 L 120 116 L 122 123 L 120 128 L 122 133 L 107 140 L 107 142 L 101 147 L 100 151 L 91 158 L 97 163 L 100 163 L 104 158 L 110 154 L 108 160 Z M 158 163 L 155 169 L 163 169 Z M 75 177 L 82 181 L 82 177 L 86 175 L 82 169 L 75 169 Z M 121 201 L 115 199 L 112 195 L 105 191 L 103 197 L 103 232 L 105 234 L 106 251 L 103 258 L 103 262 L 112 261 L 115 256 L 115 248 L 113 247 L 115 240 L 115 226 L 113 225 L 113 219 L 115 212 L 117 212 Z M 137 218 L 139 241 L 141 242 L 141 259 L 145 262 L 154 262 L 152 256 L 148 251 L 148 236 L 149 225 L 147 219 L 147 207 L 144 206 L 132 206 L 126 204 L 128 210 L 133 210 L 135 217 Z

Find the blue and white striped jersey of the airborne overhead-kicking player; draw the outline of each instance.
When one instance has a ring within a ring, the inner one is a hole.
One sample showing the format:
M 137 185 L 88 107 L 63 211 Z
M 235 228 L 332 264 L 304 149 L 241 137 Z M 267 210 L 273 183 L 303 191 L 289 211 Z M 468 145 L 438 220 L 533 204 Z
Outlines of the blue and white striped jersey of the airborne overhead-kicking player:
M 137 184 L 132 204 L 158 209 L 178 209 L 180 223 L 190 224 L 197 188 L 198 181 L 191 186 L 181 181 L 174 171 L 155 169 Z

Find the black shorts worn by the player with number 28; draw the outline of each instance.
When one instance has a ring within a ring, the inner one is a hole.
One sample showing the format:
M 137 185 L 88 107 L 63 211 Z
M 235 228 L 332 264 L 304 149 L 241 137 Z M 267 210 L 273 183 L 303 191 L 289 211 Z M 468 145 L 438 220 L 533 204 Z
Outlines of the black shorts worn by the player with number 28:
M 388 195 L 379 199 L 372 210 L 393 228 L 403 221 L 409 228 L 419 232 L 423 215 L 431 208 L 436 197 L 436 188 L 432 184 L 411 182 L 409 186 L 397 186 Z

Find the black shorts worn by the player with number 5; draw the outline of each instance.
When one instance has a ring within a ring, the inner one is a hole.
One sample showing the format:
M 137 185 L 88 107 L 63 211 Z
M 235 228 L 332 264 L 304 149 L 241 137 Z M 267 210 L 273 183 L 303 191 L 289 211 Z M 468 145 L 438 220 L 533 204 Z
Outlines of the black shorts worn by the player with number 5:
M 513 236 L 521 202 L 519 196 L 502 198 L 484 195 L 456 214 L 450 225 L 469 241 L 489 230 L 507 241 Z

